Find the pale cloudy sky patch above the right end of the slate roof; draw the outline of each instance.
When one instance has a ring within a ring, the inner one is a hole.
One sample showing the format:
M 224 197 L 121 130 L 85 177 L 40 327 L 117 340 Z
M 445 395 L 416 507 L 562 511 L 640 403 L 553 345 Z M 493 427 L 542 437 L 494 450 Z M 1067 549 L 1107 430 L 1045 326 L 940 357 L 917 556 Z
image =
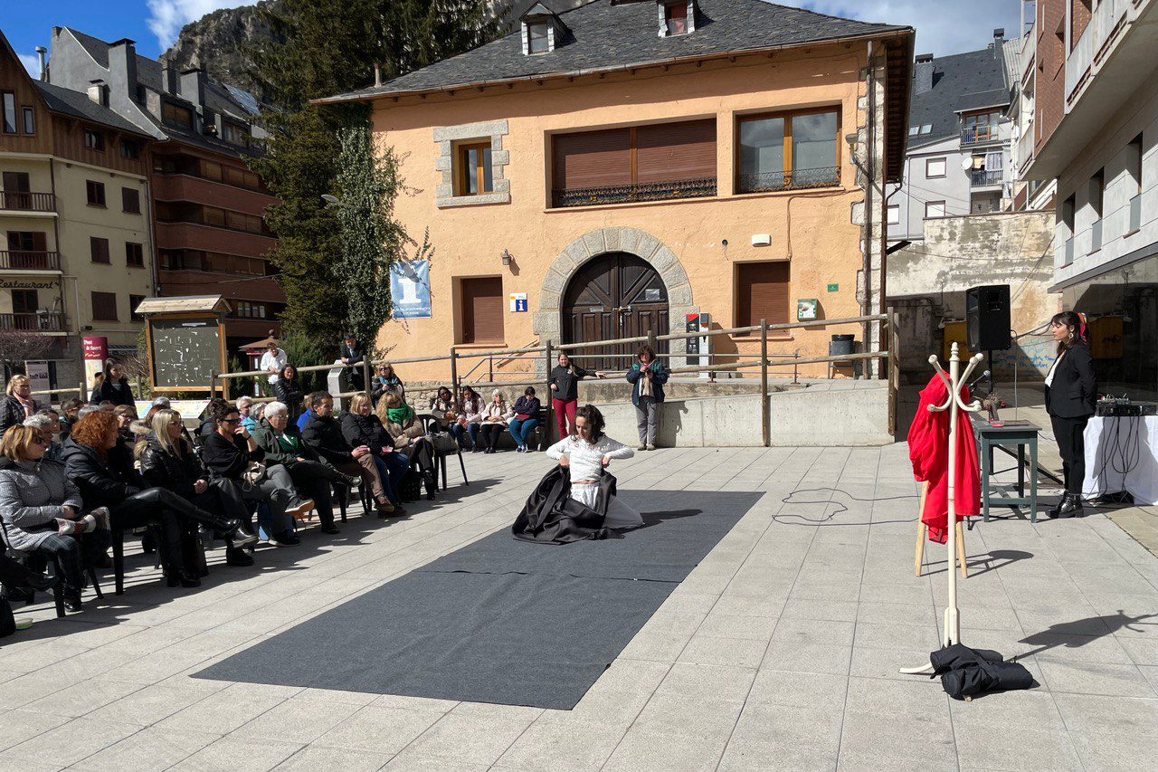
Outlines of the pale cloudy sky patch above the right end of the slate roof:
M 785 6 L 845 19 L 908 24 L 917 30 L 917 52 L 938 57 L 977 51 L 1005 29 L 1005 39 L 1020 37 L 1018 3 L 1010 0 L 776 0 Z M 1031 12 L 1032 14 L 1032 12 Z M 1032 16 L 1031 16 L 1032 21 Z

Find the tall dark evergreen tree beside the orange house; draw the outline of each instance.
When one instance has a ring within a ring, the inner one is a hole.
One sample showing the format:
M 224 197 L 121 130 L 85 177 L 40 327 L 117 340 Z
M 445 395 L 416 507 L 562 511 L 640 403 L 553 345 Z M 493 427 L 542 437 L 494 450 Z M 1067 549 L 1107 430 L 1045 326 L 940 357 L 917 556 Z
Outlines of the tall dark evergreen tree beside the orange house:
M 281 274 L 288 332 L 332 338 L 343 321 L 351 321 L 347 294 L 389 292 L 388 282 L 334 292 L 343 231 L 337 207 L 327 206 L 322 195 L 339 192 L 339 130 L 365 123 L 367 111 L 362 105 L 321 108 L 309 101 L 365 88 L 373 80 L 373 63 L 381 65 L 386 78 L 395 78 L 482 45 L 501 24 L 489 5 L 486 0 L 281 0 L 261 7 L 273 36 L 250 57 L 254 78 L 272 109 L 262 116 L 269 133 L 266 153 L 254 168 L 280 199 L 265 219 L 278 238 L 269 256 Z M 393 160 L 388 163 L 393 169 Z M 397 183 L 388 191 L 393 197 L 401 181 L 393 172 L 391 177 Z M 393 201 L 384 205 L 388 211 Z M 391 247 L 396 253 L 405 243 L 403 232 Z M 380 281 L 374 270 L 359 276 Z M 352 281 L 350 275 L 344 278 Z M 384 307 L 388 312 L 388 298 Z M 357 311 L 361 323 L 364 312 L 364 307 Z M 367 338 L 372 341 L 373 336 Z

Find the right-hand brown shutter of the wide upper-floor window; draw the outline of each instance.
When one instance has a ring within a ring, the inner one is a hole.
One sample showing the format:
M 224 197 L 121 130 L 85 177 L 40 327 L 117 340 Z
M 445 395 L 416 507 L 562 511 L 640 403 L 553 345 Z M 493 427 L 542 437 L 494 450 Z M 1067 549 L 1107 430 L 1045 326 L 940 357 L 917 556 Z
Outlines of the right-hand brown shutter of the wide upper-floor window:
M 716 176 L 716 118 L 636 129 L 636 182 Z

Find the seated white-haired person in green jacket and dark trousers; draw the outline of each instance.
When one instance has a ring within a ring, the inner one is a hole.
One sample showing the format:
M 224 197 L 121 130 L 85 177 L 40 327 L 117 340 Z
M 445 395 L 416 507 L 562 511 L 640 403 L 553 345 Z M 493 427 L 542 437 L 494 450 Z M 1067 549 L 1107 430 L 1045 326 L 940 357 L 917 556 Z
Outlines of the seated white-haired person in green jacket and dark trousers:
M 330 485 L 353 488 L 361 478 L 335 469 L 301 438 L 298 427 L 290 423 L 290 407 L 285 402 L 270 402 L 265 416 L 252 431 L 257 445 L 265 452 L 267 464 L 280 464 L 290 469 L 294 487 L 314 500 L 322 520 L 322 533 L 337 533 L 334 524 L 334 496 Z

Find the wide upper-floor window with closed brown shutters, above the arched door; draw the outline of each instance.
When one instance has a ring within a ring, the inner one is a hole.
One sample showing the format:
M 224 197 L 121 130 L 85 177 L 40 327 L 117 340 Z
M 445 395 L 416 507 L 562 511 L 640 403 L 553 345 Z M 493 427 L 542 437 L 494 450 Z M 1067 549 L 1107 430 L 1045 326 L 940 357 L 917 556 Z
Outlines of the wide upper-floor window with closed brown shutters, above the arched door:
M 552 204 L 716 195 L 716 119 L 556 134 Z

